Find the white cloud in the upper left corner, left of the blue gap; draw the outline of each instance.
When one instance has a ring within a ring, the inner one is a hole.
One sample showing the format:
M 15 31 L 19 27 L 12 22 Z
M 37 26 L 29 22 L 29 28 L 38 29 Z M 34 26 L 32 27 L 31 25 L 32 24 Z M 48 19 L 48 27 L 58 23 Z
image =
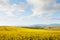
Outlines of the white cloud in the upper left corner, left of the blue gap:
M 3 11 L 6 16 L 15 16 L 13 11 L 17 10 L 19 12 L 24 12 L 24 3 L 21 3 L 19 5 L 17 4 L 13 4 L 10 5 L 9 4 L 9 0 L 0 0 L 0 11 Z

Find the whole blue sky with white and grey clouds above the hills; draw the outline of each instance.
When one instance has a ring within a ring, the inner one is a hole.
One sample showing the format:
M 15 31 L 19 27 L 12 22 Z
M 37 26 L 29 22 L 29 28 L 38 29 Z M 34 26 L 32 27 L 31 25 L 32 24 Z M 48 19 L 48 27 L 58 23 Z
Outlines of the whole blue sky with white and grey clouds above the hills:
M 60 24 L 60 0 L 0 0 L 0 25 Z

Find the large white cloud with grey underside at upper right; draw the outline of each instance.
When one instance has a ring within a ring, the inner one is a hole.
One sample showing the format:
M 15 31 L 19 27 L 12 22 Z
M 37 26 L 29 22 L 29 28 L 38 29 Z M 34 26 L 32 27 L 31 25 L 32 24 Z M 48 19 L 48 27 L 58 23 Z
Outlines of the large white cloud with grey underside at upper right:
M 45 13 L 51 16 L 53 12 L 60 10 L 60 4 L 56 0 L 27 0 L 27 3 L 32 5 L 32 16 L 43 16 Z

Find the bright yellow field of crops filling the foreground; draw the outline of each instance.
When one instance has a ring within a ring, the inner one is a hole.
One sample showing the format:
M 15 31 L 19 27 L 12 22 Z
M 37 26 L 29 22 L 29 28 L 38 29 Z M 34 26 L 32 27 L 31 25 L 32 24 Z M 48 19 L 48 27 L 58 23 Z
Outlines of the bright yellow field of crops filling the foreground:
M 0 27 L 0 40 L 60 40 L 60 30 Z

